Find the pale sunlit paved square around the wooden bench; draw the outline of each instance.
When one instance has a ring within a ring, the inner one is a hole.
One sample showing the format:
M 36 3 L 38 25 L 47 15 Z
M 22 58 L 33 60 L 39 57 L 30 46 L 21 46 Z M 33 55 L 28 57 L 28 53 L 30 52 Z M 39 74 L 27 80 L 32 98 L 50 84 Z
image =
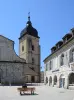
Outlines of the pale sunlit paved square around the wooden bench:
M 36 95 L 20 96 L 16 86 L 0 86 L 0 100 L 73 100 L 74 90 L 36 86 Z

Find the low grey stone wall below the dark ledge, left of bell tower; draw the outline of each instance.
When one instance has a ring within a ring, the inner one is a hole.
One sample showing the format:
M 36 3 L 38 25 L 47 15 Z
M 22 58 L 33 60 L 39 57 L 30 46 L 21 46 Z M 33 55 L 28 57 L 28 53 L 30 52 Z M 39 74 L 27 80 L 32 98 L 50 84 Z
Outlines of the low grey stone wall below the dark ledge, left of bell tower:
M 0 62 L 1 83 L 20 84 L 25 80 L 25 64 L 14 62 Z

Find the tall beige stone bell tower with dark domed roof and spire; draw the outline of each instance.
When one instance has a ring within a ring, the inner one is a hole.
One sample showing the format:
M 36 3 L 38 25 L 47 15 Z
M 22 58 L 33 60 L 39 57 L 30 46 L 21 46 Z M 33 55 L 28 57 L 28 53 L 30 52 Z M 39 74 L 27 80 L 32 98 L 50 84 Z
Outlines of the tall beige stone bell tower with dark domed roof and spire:
M 40 82 L 40 45 L 39 36 L 28 17 L 26 27 L 19 38 L 19 56 L 24 58 L 30 70 L 27 71 L 28 82 Z

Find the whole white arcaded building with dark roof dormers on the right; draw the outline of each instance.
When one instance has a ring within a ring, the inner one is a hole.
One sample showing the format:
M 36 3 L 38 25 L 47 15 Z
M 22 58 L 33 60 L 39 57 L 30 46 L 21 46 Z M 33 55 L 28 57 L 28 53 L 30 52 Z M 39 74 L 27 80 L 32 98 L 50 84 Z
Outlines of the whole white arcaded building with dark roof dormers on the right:
M 51 48 L 44 59 L 44 83 L 69 88 L 74 85 L 74 28 Z

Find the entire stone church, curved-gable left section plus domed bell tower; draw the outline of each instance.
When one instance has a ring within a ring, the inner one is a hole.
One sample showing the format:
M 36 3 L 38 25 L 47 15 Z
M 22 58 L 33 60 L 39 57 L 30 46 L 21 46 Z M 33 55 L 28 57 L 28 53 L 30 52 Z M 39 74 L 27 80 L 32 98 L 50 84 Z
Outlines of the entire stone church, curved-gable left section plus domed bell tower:
M 24 84 L 40 82 L 39 36 L 32 27 L 30 16 L 19 37 L 19 56 L 14 41 L 0 35 L 0 83 Z

